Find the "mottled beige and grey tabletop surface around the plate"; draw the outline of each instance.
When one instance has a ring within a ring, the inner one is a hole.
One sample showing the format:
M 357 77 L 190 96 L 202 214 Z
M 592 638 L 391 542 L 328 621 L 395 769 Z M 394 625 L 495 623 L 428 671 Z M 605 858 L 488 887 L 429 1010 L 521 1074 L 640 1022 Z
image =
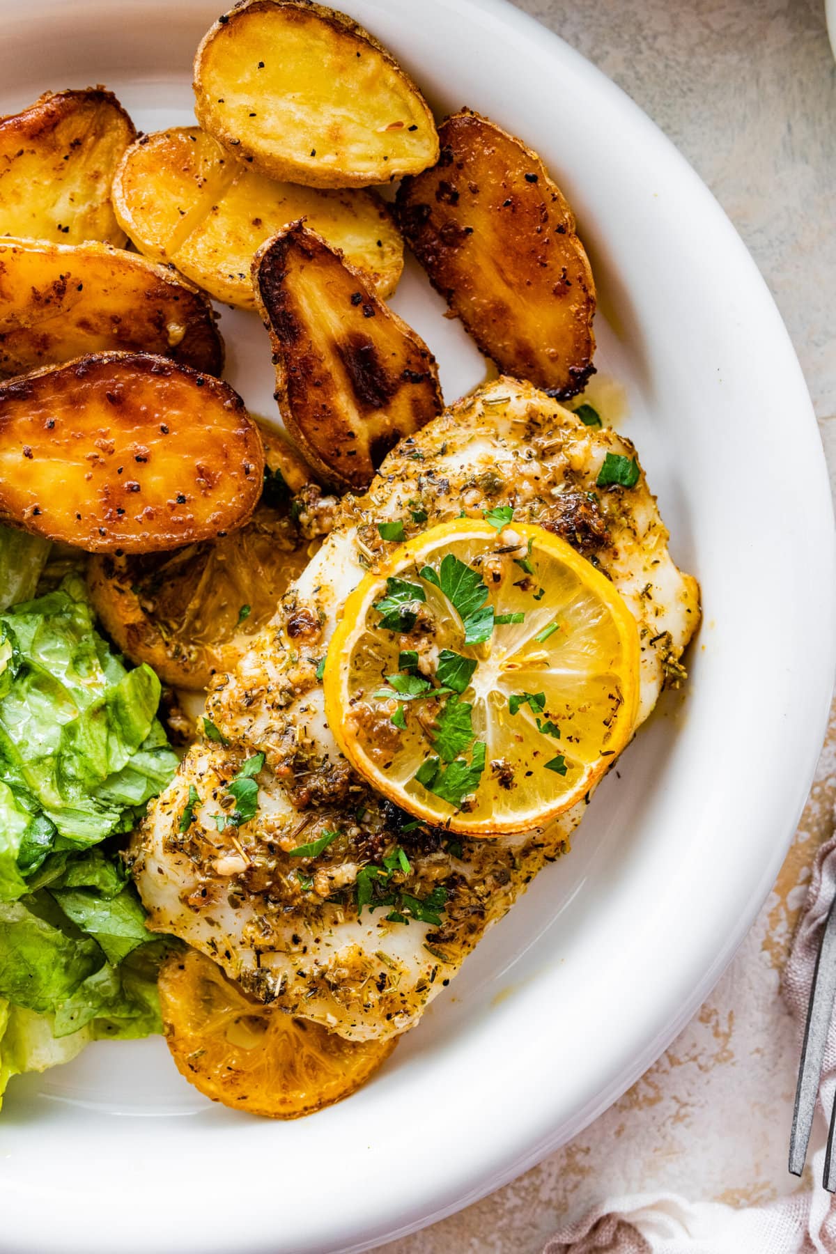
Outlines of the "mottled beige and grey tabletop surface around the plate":
M 836 65 L 823 0 L 519 5 L 624 88 L 728 212 L 792 335 L 836 488 Z M 778 976 L 835 799 L 836 709 L 775 890 L 692 1023 L 575 1141 L 389 1254 L 534 1254 L 567 1213 L 613 1191 L 746 1204 L 796 1185 L 786 1156 L 797 1042 Z

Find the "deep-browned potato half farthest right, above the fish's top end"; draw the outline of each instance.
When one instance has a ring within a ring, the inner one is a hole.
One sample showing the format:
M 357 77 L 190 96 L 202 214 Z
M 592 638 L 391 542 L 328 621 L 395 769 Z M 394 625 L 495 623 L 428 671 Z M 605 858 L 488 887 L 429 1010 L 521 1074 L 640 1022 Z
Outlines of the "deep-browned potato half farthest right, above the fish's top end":
M 595 285 L 575 219 L 530 148 L 462 110 L 434 169 L 404 179 L 397 218 L 432 286 L 503 374 L 558 398 L 583 390 Z

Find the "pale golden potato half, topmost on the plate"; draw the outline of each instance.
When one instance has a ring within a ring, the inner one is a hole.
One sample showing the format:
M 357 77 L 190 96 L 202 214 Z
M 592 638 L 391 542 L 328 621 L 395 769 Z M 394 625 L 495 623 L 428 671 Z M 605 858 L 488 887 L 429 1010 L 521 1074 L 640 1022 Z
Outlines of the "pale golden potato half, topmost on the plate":
M 439 155 L 430 108 L 397 61 L 310 0 L 243 0 L 219 18 L 194 58 L 194 95 L 203 129 L 272 178 L 368 187 Z

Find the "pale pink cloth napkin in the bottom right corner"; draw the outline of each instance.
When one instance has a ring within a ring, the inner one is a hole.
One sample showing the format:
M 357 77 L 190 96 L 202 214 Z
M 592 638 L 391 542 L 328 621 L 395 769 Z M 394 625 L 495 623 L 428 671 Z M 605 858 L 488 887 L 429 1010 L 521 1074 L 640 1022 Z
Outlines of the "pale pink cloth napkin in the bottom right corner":
M 798 1047 L 821 934 L 836 894 L 836 835 L 821 846 L 783 979 L 783 998 L 798 1028 Z M 836 1027 L 831 1023 L 818 1102 L 830 1119 L 836 1096 Z M 790 1129 L 782 1130 L 787 1142 Z M 605 1201 L 569 1224 L 543 1254 L 836 1254 L 836 1200 L 821 1188 L 823 1150 L 812 1160 L 812 1190 L 766 1206 L 734 1209 L 689 1203 L 673 1194 Z

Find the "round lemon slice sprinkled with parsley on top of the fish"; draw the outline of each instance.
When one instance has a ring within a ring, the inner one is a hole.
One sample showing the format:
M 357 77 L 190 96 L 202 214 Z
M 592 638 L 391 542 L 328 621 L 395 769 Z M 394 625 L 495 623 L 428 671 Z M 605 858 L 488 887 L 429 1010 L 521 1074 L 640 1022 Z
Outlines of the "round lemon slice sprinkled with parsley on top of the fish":
M 358 774 L 474 836 L 574 805 L 638 706 L 638 630 L 619 593 L 565 540 L 505 513 L 395 549 L 348 597 L 323 672 L 328 725 Z

